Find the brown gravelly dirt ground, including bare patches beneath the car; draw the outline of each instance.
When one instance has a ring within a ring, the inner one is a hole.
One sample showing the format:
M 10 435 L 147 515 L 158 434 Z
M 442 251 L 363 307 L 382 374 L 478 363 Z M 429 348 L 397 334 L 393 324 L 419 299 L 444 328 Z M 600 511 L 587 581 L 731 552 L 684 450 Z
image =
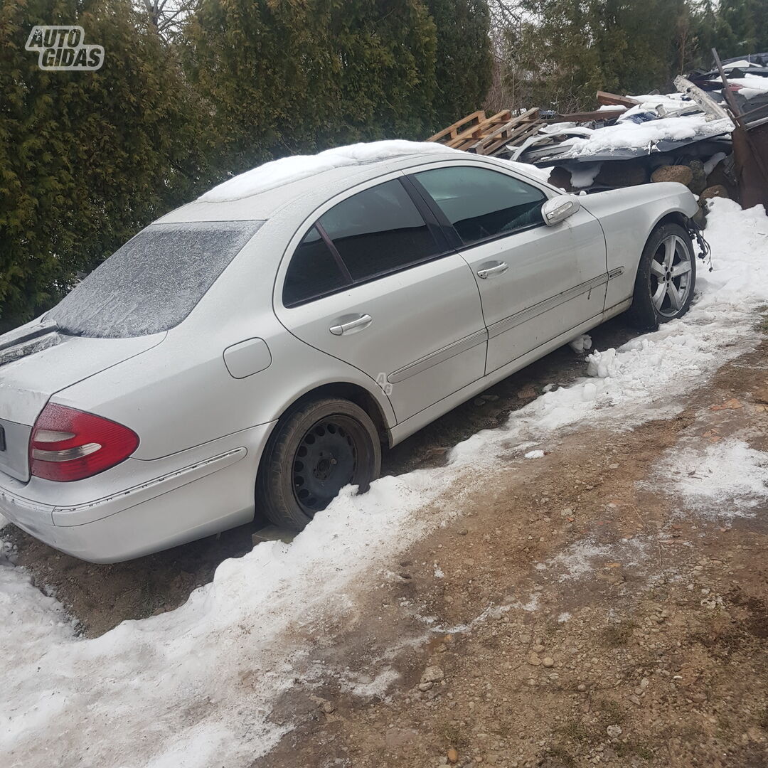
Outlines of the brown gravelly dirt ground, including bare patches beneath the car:
M 672 418 L 511 451 L 465 515 L 303 637 L 270 715 L 292 730 L 253 765 L 768 764 L 766 353 L 670 392 Z M 549 356 L 392 452 L 388 471 L 442 462 L 583 372 L 567 349 Z M 184 601 L 250 533 L 118 566 L 15 542 L 95 635 Z

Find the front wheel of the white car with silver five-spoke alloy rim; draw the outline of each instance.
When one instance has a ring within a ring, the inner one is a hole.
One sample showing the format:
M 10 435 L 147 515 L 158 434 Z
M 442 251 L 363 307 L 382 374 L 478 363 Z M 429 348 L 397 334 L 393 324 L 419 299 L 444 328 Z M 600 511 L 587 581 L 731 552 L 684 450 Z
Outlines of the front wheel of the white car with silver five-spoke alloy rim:
M 627 317 L 638 329 L 655 330 L 687 313 L 695 287 L 696 257 L 690 234 L 680 224 L 657 227 L 640 257 Z

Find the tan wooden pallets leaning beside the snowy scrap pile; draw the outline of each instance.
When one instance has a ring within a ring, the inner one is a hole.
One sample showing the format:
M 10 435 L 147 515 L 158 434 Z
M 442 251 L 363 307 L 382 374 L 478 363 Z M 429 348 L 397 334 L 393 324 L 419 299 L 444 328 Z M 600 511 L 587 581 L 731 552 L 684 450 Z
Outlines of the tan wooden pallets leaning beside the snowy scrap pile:
M 463 120 L 449 125 L 427 141 L 437 141 L 446 147 L 475 154 L 495 154 L 508 145 L 515 146 L 535 134 L 544 124 L 538 119 L 538 109 L 513 115 L 505 109 L 488 118 L 484 111 L 472 112 Z

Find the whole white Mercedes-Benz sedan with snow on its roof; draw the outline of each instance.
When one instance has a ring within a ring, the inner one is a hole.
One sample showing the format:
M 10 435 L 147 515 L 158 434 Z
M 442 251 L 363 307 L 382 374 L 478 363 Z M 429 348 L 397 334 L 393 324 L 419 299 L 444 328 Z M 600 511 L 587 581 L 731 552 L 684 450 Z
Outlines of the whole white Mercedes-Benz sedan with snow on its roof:
M 574 197 L 379 142 L 234 177 L 0 336 L 0 513 L 114 562 L 259 509 L 300 529 L 391 446 L 630 310 L 686 312 L 680 184 Z

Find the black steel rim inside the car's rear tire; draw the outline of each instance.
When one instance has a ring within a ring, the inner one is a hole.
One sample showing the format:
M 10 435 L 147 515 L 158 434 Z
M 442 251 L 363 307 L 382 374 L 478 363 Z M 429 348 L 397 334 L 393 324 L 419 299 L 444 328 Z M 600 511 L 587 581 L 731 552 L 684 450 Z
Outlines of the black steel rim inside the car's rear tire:
M 325 509 L 345 486 L 356 484 L 365 465 L 365 431 L 349 416 L 335 414 L 308 429 L 293 456 L 293 495 L 306 515 Z

